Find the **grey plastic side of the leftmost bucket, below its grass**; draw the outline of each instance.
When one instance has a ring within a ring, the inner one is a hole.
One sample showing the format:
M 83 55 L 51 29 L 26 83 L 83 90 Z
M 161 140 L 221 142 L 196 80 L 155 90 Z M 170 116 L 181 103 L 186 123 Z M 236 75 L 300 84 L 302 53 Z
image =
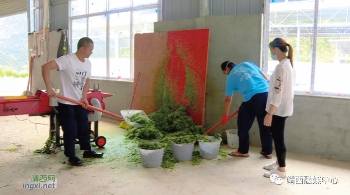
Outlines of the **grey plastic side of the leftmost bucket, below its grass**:
M 164 149 L 165 147 L 154 150 L 139 148 L 142 165 L 146 168 L 159 167 L 162 164 Z

